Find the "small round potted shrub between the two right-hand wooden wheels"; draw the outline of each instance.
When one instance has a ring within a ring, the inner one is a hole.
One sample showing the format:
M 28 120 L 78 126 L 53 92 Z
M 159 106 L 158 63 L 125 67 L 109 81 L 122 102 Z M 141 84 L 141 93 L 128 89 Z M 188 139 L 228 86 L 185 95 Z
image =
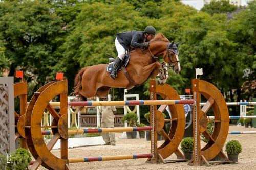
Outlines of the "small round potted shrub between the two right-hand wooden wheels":
M 186 137 L 181 141 L 180 148 L 186 159 L 190 160 L 193 157 L 193 148 L 194 148 L 193 143 L 194 141 L 193 141 L 193 138 L 191 137 Z

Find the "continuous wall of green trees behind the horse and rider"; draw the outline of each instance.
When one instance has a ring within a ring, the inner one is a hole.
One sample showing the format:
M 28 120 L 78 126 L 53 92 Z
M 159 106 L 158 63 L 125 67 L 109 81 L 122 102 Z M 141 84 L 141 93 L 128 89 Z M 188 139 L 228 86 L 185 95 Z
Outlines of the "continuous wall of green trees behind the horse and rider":
M 203 68 L 201 79 L 232 93 L 227 102 L 249 101 L 256 79 L 255 10 L 255 1 L 239 10 L 228 1 L 213 1 L 201 11 L 170 0 L 0 1 L 0 72 L 8 68 L 14 76 L 23 69 L 31 96 L 62 71 L 70 93 L 78 69 L 108 63 L 106 53 L 116 56 L 116 33 L 152 25 L 170 41 L 181 41 L 182 70 L 168 70 L 167 80 L 179 94 L 190 88 L 194 68 Z M 148 99 L 147 82 L 129 93 Z M 122 100 L 123 89 L 111 94 Z

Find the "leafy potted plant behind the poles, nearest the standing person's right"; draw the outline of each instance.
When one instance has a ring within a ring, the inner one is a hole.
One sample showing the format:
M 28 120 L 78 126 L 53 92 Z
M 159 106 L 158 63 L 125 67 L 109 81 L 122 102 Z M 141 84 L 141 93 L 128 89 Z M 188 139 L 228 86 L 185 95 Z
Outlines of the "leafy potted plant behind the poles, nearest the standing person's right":
M 127 113 L 122 117 L 122 122 L 126 122 L 128 124 L 128 127 L 134 127 L 137 125 L 138 122 L 138 116 L 135 113 Z M 135 139 L 137 136 L 137 131 L 132 132 L 126 132 L 128 139 Z

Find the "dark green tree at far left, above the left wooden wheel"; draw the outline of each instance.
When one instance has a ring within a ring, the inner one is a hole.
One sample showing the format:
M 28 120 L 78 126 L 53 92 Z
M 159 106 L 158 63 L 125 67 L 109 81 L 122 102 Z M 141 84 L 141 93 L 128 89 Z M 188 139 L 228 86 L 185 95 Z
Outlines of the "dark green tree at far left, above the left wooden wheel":
M 61 58 L 58 47 L 65 35 L 62 21 L 45 1 L 0 2 L 0 33 L 9 75 L 23 69 L 35 89 L 53 80 L 52 68 Z M 34 89 L 34 91 L 35 91 Z

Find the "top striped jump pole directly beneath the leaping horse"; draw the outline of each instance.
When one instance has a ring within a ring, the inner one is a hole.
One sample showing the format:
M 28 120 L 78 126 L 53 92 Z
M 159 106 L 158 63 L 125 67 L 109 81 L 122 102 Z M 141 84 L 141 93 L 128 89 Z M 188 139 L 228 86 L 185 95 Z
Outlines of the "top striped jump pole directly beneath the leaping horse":
M 194 104 L 193 99 L 189 100 L 132 100 L 132 101 L 87 101 L 68 102 L 68 106 L 136 106 L 136 105 L 177 105 Z

